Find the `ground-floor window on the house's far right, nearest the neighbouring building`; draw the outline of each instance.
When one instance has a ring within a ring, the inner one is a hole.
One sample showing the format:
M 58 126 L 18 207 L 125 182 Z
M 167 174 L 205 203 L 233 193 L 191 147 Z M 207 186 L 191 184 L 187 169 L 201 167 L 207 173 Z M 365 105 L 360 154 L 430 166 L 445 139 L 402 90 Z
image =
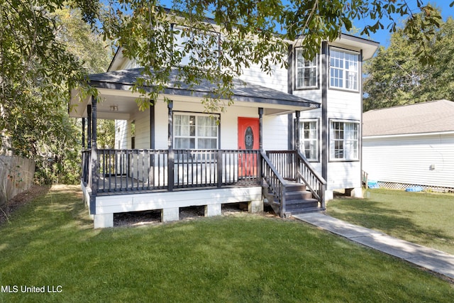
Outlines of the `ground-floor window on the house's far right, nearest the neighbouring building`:
M 358 122 L 331 121 L 331 160 L 359 160 L 359 125 Z

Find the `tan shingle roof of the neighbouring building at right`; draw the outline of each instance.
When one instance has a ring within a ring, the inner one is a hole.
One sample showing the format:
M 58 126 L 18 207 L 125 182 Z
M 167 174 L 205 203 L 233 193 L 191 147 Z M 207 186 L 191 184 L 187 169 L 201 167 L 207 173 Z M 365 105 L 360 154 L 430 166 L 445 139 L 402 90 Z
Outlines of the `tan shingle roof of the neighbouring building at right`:
M 454 102 L 428 101 L 362 114 L 362 136 L 454 131 Z

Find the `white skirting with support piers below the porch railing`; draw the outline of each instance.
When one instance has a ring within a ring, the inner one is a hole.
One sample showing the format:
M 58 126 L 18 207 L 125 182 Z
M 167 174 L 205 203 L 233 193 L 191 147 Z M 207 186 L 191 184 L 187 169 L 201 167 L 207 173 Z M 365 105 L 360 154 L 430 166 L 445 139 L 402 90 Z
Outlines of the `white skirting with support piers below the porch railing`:
M 84 200 L 90 204 L 89 188 L 83 186 Z M 205 216 L 221 215 L 221 205 L 248 202 L 250 212 L 263 211 L 262 187 L 181 190 L 175 192 L 143 192 L 109 194 L 96 197 L 94 228 L 114 226 L 114 214 L 128 211 L 161 210 L 161 221 L 179 220 L 179 208 L 205 206 Z

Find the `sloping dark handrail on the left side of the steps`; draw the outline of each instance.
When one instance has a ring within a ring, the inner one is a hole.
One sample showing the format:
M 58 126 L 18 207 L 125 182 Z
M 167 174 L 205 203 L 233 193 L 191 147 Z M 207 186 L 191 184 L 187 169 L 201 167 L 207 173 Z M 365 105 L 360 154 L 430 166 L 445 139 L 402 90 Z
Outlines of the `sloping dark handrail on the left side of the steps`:
M 275 165 L 272 164 L 270 158 L 267 157 L 263 150 L 260 151 L 260 155 L 262 155 L 262 178 L 267 182 L 272 192 L 277 194 L 279 213 L 282 217 L 285 214 L 285 185 L 287 182 L 277 172 Z

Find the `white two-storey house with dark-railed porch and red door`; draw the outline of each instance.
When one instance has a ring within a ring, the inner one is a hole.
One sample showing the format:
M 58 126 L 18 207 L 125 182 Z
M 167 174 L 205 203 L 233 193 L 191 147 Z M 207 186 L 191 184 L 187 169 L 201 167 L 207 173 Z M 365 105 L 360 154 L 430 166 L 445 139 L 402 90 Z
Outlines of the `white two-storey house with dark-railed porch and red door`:
M 82 189 L 94 227 L 126 211 L 160 209 L 172 221 L 184 206 L 214 216 L 222 204 L 260 211 L 266 202 L 288 216 L 323 210 L 334 189 L 360 196 L 362 61 L 377 47 L 343 34 L 309 61 L 295 41 L 288 69 L 248 68 L 235 80 L 234 104 L 209 114 L 201 99 L 211 84 L 177 85 L 176 70 L 140 111 L 131 87 L 141 67 L 118 51 L 106 73 L 89 77 L 101 101 L 81 102 L 77 89 L 70 101 L 70 116 L 82 118 Z M 114 149 L 96 145 L 97 119 L 116 121 Z

